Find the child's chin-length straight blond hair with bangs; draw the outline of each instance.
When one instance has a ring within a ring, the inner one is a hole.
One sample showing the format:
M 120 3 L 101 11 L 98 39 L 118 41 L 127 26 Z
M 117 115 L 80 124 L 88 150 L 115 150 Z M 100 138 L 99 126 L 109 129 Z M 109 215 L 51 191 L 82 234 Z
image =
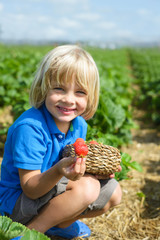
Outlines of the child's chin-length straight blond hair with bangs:
M 30 104 L 39 108 L 52 84 L 69 82 L 73 74 L 77 84 L 88 93 L 82 116 L 91 118 L 99 101 L 99 73 L 91 55 L 76 45 L 56 47 L 43 58 L 30 89 Z

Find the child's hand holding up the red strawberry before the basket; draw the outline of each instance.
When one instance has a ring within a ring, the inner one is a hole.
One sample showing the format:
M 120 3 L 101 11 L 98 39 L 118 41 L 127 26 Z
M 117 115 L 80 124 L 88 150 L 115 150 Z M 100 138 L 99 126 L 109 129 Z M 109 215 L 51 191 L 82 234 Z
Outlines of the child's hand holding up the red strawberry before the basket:
M 72 181 L 80 179 L 86 170 L 85 158 L 66 157 L 61 159 L 57 165 L 59 172 Z

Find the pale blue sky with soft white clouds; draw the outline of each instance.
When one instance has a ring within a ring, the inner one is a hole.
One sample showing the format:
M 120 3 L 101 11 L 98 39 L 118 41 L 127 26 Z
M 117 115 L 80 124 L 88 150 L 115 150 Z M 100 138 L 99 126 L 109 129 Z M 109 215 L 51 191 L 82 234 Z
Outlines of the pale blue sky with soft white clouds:
M 0 41 L 160 42 L 160 0 L 0 0 Z

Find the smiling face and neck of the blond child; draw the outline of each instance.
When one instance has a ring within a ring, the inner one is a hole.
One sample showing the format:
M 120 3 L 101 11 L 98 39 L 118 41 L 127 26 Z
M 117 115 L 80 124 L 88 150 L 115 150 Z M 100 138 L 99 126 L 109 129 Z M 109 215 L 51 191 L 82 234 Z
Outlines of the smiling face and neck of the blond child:
M 70 122 L 81 115 L 87 107 L 88 93 L 76 84 L 53 85 L 47 93 L 45 104 L 60 131 L 67 132 Z

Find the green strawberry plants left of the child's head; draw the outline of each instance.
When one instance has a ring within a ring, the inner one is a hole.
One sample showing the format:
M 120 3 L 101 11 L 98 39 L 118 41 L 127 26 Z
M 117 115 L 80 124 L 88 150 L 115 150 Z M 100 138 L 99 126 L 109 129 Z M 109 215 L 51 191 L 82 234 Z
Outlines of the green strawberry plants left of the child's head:
M 33 75 L 48 50 L 49 47 L 0 46 L 0 106 L 11 104 L 15 119 L 29 108 Z

